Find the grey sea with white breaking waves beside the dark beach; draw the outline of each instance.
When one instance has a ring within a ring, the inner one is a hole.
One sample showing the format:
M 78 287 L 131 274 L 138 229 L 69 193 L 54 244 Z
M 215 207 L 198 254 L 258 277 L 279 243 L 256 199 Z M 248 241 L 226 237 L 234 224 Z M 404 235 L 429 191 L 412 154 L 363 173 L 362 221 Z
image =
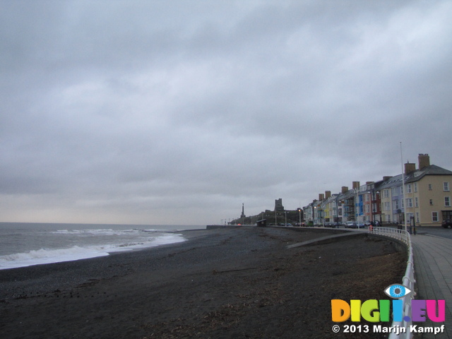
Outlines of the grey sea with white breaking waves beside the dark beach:
M 108 256 L 184 242 L 194 225 L 109 225 L 0 222 L 0 270 Z

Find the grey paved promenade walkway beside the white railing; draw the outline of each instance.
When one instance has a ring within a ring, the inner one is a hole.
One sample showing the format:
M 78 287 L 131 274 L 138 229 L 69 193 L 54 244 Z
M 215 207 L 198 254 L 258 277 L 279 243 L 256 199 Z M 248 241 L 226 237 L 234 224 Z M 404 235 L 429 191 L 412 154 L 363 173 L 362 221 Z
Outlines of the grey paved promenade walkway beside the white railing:
M 415 261 L 417 296 L 415 299 L 446 300 L 446 331 L 433 335 L 424 333 L 422 338 L 452 339 L 452 239 L 429 234 L 412 234 L 411 244 Z M 426 321 L 419 326 L 441 326 L 443 323 Z M 417 338 L 417 337 L 415 337 Z

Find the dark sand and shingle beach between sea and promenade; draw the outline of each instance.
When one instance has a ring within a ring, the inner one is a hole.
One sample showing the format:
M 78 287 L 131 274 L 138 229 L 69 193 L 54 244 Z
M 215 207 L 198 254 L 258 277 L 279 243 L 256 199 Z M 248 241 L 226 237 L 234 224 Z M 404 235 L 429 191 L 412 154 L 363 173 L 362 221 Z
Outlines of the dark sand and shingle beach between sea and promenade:
M 334 334 L 331 299 L 387 299 L 405 271 L 390 240 L 286 249 L 326 233 L 182 233 L 189 241 L 0 270 L 0 338 L 384 338 Z

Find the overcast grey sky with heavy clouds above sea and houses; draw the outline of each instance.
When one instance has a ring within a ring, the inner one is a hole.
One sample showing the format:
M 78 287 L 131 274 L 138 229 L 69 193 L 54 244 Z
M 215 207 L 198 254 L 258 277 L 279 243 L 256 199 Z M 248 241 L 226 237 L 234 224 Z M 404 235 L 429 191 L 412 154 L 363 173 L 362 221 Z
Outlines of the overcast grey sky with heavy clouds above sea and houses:
M 206 225 L 428 153 L 452 1 L 0 0 L 0 221 Z

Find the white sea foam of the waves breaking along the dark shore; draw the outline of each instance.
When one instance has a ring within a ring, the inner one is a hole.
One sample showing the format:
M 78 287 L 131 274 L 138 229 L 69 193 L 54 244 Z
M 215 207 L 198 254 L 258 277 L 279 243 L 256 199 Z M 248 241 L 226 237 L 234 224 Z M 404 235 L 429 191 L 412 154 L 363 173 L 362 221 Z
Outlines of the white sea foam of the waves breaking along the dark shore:
M 162 244 L 184 242 L 185 240 L 186 239 L 184 239 L 181 234 L 167 233 L 156 237 L 149 237 L 143 242 L 122 242 L 121 244 L 106 244 L 97 246 L 71 246 L 65 249 L 38 249 L 25 253 L 0 256 L 0 270 L 4 270 L 6 268 L 39 265 L 43 263 L 59 263 L 61 261 L 75 261 L 86 258 L 95 258 L 97 256 L 108 256 L 109 253 L 112 252 L 131 251 L 133 249 L 143 249 Z

